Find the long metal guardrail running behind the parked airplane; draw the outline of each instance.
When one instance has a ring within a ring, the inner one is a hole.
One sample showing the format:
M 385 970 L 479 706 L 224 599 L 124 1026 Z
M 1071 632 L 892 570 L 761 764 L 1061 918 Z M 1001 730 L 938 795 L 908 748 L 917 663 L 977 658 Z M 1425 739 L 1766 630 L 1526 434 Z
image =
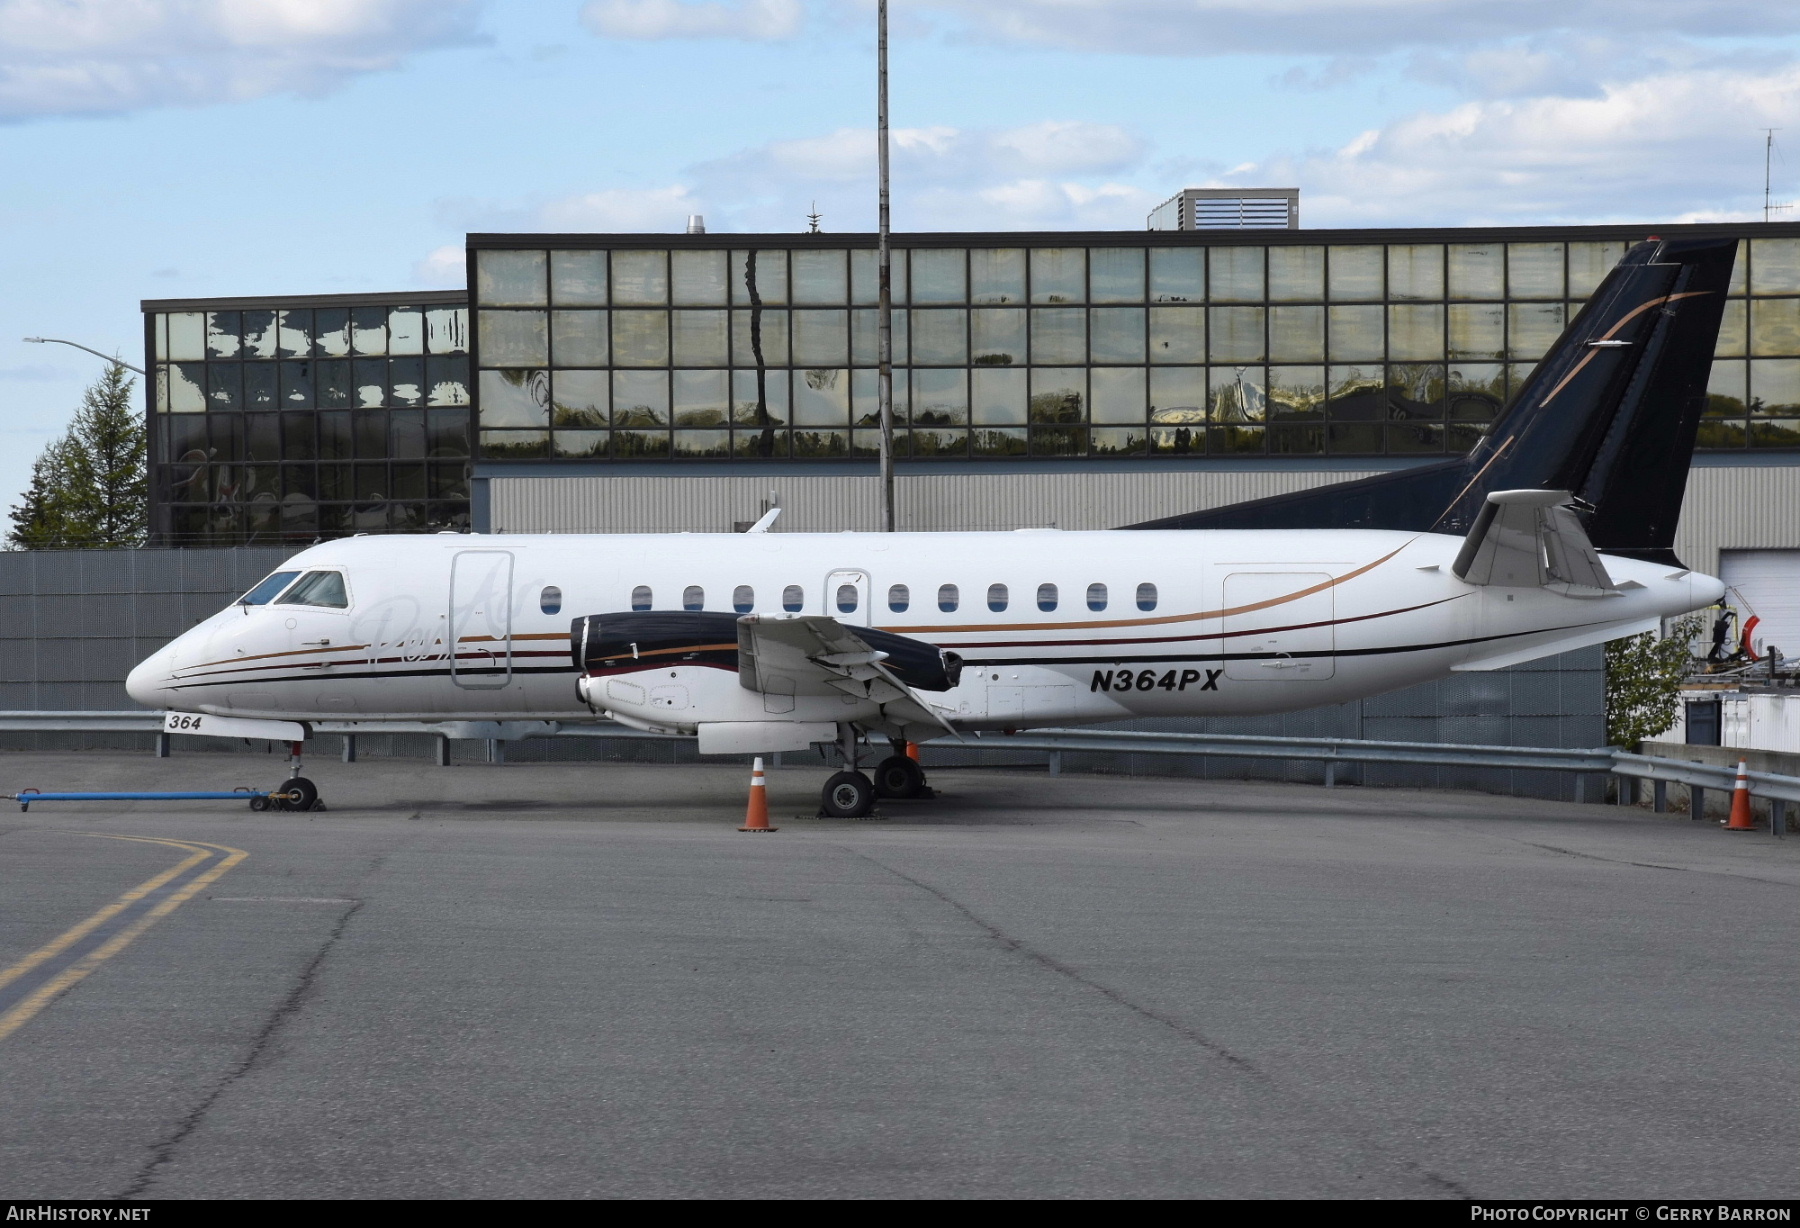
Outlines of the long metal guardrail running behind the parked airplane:
M 425 733 L 446 740 L 518 742 L 522 738 L 621 738 L 673 742 L 664 733 L 644 733 L 614 724 L 569 724 L 558 720 L 313 720 L 313 733 Z M 153 711 L 0 711 L 0 733 L 162 733 L 162 713 Z M 965 735 L 945 749 L 1046 751 L 1058 765 L 1064 751 L 1102 754 L 1199 754 L 1217 758 L 1310 760 L 1325 763 L 1325 783 L 1334 783 L 1336 763 L 1422 763 L 1438 767 L 1510 767 L 1523 771 L 1589 772 L 1685 785 L 1692 790 L 1730 792 L 1737 769 L 1615 747 L 1471 745 L 1458 742 L 1375 742 L 1363 738 L 1273 738 L 1240 733 L 1145 733 L 1138 729 L 1031 729 L 1026 733 Z M 1800 803 L 1800 776 L 1746 772 L 1750 792 L 1778 803 Z

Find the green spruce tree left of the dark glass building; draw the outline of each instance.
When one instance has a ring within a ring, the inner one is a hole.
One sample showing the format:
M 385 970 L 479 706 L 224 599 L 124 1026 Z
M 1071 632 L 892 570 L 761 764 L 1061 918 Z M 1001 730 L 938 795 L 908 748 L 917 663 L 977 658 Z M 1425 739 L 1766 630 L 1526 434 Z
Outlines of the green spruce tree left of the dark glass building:
M 61 439 L 31 466 L 13 506 L 14 549 L 142 546 L 149 529 L 144 423 L 131 407 L 137 380 L 112 364 L 81 398 Z

